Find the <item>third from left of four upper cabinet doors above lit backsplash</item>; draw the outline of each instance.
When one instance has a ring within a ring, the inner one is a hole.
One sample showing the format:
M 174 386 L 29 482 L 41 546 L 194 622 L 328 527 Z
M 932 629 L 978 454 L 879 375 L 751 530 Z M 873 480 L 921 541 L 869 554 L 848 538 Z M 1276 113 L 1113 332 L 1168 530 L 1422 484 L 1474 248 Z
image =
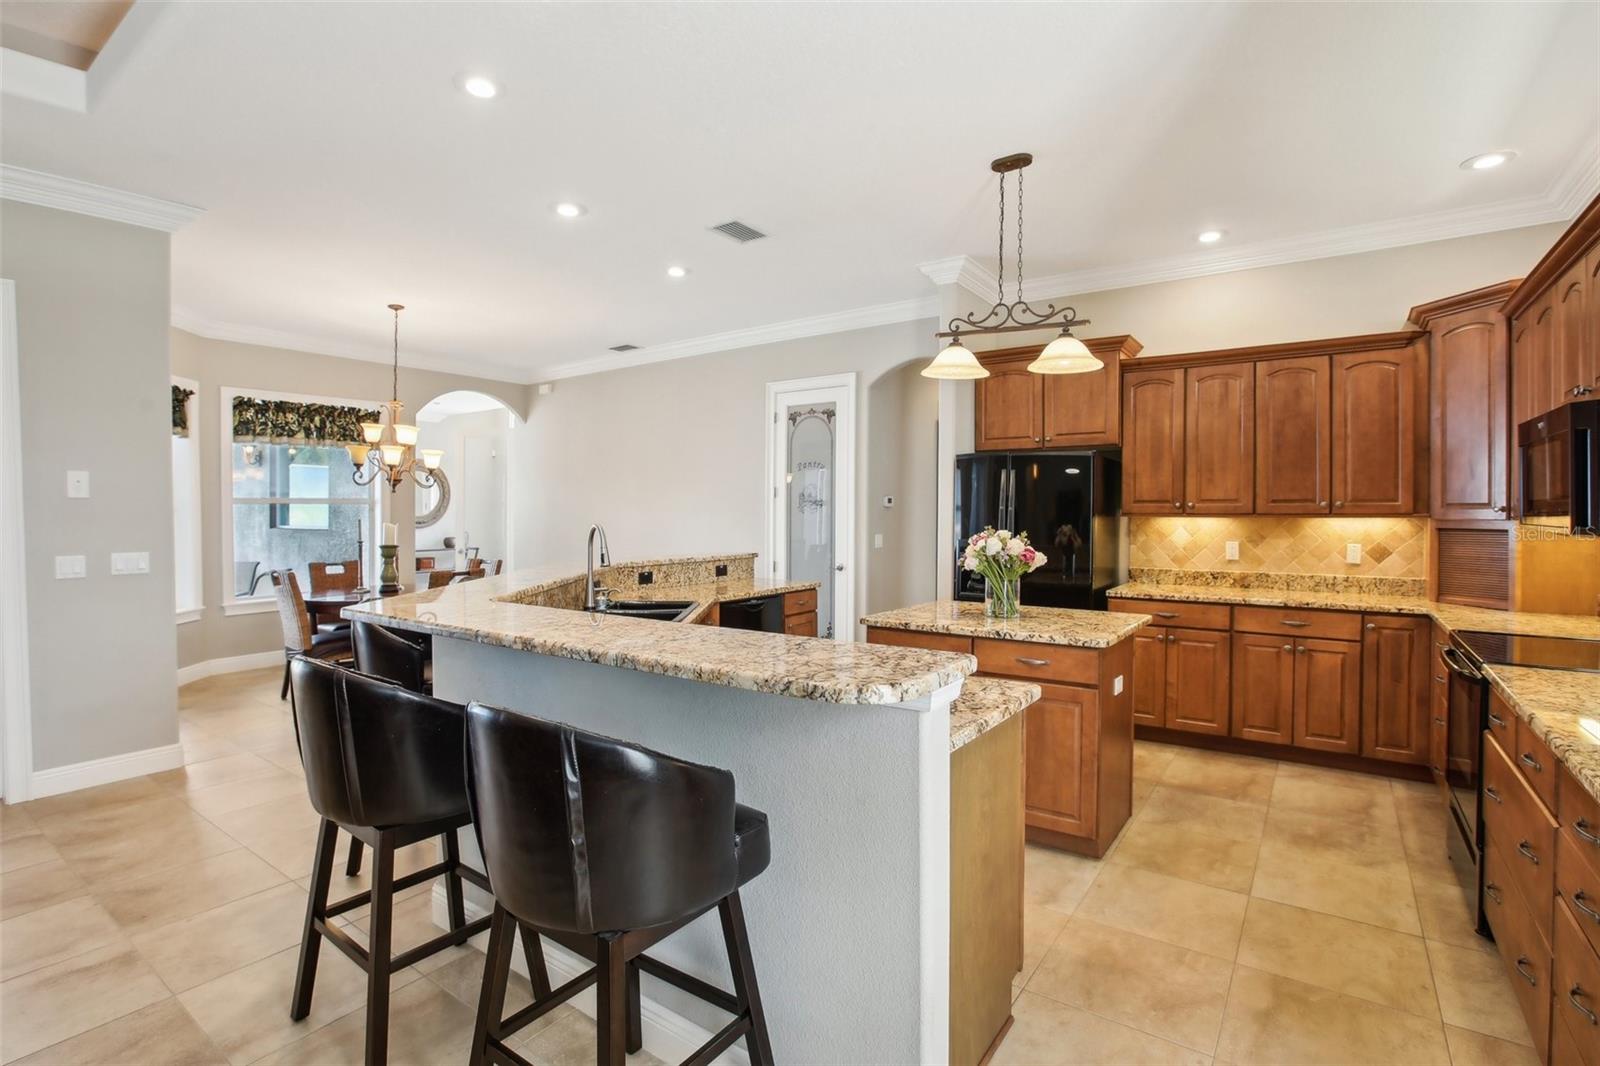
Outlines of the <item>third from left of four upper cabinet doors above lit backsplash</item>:
M 1328 514 L 1326 355 L 1256 363 L 1256 514 Z

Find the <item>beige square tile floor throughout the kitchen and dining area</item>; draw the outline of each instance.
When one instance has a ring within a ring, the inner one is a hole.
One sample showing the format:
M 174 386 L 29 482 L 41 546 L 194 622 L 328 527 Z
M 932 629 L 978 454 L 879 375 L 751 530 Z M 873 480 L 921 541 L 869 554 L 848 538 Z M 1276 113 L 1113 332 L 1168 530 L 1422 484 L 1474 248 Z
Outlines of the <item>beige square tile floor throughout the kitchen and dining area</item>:
M 360 1061 L 365 984 L 339 952 L 288 1020 L 315 815 L 277 687 L 186 687 L 182 770 L 0 808 L 0 1063 Z M 1141 743 L 1134 799 L 1104 861 L 1029 850 L 997 1063 L 1533 1061 L 1430 787 Z M 397 951 L 432 935 L 426 885 L 395 922 Z M 464 1061 L 482 962 L 397 975 L 390 1061 Z M 541 1064 L 594 1060 L 571 1008 L 520 1036 Z

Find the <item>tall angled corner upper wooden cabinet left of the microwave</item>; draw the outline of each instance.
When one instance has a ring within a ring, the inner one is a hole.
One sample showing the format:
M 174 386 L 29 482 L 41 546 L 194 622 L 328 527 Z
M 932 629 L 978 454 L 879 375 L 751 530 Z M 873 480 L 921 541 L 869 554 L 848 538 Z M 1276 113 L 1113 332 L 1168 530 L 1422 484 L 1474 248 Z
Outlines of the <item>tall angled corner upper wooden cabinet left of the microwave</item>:
M 1517 282 L 1411 309 L 1429 331 L 1429 507 L 1435 519 L 1504 519 L 1510 456 L 1510 330 Z

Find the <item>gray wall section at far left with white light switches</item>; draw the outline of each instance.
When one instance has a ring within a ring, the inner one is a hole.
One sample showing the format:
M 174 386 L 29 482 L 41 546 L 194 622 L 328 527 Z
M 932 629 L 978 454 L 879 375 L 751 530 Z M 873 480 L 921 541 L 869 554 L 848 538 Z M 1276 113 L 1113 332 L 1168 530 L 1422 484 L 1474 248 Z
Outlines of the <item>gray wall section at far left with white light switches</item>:
M 170 237 L 11 200 L 0 230 L 0 275 L 16 282 L 34 770 L 174 744 Z M 88 499 L 67 499 L 69 469 L 90 472 Z M 149 552 L 150 573 L 110 576 L 114 551 Z M 86 555 L 88 578 L 56 581 L 58 554 Z

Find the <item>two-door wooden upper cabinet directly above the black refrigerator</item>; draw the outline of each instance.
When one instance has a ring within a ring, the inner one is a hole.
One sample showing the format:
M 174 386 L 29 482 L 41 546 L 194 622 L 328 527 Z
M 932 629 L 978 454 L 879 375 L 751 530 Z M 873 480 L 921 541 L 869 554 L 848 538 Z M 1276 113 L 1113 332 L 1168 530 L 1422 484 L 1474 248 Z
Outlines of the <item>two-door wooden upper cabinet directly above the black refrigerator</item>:
M 1122 370 L 1142 347 L 1131 336 L 1083 341 L 1102 363 L 1088 375 L 1035 375 L 1042 346 L 982 352 L 989 376 L 976 383 L 979 451 L 1086 448 L 1122 443 Z

